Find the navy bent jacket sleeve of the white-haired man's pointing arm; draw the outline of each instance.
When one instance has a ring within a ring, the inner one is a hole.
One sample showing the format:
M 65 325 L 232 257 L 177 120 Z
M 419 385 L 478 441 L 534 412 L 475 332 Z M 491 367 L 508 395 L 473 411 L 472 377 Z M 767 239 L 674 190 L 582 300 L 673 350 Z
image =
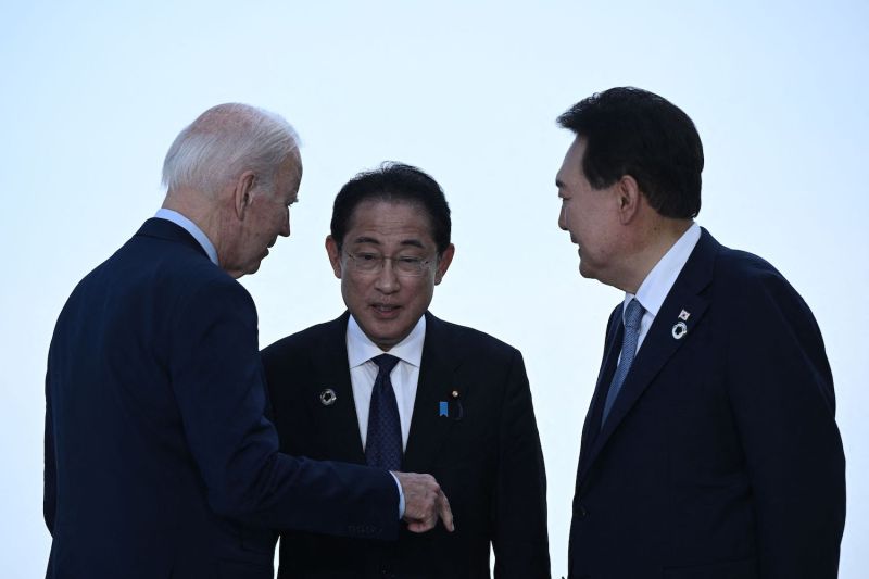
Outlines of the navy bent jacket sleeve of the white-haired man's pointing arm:
M 219 515 L 273 528 L 379 539 L 398 533 L 387 470 L 278 453 L 265 417 L 256 311 L 236 281 L 179 300 L 169 373 L 185 433 Z

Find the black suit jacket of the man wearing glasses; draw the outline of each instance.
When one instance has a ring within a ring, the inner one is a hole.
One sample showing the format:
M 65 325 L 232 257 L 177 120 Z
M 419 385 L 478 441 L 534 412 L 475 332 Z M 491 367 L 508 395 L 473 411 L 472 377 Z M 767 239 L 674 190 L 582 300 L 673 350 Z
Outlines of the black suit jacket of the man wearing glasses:
M 347 354 L 344 313 L 263 351 L 281 449 L 365 463 Z M 320 402 L 331 388 L 337 401 Z M 457 392 L 457 398 L 453 397 Z M 440 403 L 448 402 L 448 416 Z M 406 529 L 396 543 L 282 533 L 281 578 L 547 578 L 543 456 L 521 354 L 426 314 L 426 338 L 402 470 L 430 473 L 456 530 Z

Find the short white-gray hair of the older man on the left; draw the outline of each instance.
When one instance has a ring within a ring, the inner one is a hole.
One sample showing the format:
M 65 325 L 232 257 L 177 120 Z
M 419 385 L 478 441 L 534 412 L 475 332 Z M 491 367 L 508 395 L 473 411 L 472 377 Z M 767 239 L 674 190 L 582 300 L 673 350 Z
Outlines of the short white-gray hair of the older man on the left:
M 163 185 L 216 193 L 245 171 L 270 188 L 278 167 L 299 149 L 299 136 L 280 115 L 240 103 L 218 104 L 185 127 L 163 162 Z

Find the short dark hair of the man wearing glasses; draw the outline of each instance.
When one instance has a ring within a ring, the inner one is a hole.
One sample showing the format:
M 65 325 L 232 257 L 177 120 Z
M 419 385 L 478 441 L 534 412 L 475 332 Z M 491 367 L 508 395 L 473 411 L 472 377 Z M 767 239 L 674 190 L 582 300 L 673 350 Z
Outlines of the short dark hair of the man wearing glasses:
M 374 171 L 360 173 L 341 187 L 332 205 L 331 223 L 332 239 L 339 248 L 343 246 L 353 212 L 363 201 L 418 205 L 428 215 L 438 254 L 450 246 L 450 205 L 441 186 L 425 172 L 387 161 Z

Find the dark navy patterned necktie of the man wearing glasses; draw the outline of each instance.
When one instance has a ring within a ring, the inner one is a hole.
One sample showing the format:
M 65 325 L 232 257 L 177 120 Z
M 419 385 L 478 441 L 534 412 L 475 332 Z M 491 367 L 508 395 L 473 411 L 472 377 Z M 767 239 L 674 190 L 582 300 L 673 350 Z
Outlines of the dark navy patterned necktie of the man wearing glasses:
M 365 439 L 365 462 L 388 470 L 401 468 L 401 419 L 395 392 L 389 373 L 399 358 L 381 354 L 371 358 L 378 368 L 377 379 L 371 390 L 371 404 L 368 407 L 368 436 Z

